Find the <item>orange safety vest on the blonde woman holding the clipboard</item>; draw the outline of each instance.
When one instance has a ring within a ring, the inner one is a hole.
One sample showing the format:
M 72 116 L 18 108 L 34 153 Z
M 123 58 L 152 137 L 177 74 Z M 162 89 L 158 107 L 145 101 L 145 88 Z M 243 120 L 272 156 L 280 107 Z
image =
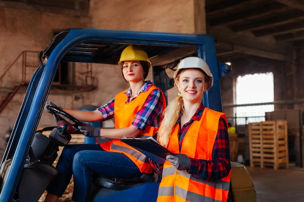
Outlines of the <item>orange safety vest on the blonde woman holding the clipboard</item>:
M 181 152 L 177 137 L 179 124 L 173 128 L 167 148 L 175 154 L 186 154 L 195 159 L 212 159 L 214 141 L 220 117 L 225 114 L 205 108 L 200 121 L 194 121 L 187 131 Z M 164 164 L 157 202 L 227 202 L 230 174 L 216 182 L 207 182 L 176 170 L 169 161 Z

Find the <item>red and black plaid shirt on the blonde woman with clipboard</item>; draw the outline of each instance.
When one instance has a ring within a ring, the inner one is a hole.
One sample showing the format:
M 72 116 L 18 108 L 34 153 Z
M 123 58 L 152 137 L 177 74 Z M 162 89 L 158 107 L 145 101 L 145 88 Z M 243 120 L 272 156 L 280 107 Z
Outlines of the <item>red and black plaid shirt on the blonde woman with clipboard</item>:
M 178 134 L 180 150 L 186 132 L 190 128 L 193 121 L 200 120 L 203 114 L 203 110 L 204 106 L 203 104 L 201 104 L 193 115 L 193 117 L 191 118 L 191 120 L 184 124 L 182 127 L 180 127 L 180 131 Z M 180 124 L 180 120 L 178 121 L 178 124 Z M 161 174 L 162 165 L 156 165 L 152 161 L 150 162 L 153 169 L 159 174 Z M 230 170 L 230 147 L 227 124 L 225 119 L 220 118 L 218 134 L 213 145 L 212 160 L 190 158 L 190 168 L 189 170 L 186 170 L 186 172 L 194 175 L 195 177 L 201 180 L 214 182 L 227 176 Z

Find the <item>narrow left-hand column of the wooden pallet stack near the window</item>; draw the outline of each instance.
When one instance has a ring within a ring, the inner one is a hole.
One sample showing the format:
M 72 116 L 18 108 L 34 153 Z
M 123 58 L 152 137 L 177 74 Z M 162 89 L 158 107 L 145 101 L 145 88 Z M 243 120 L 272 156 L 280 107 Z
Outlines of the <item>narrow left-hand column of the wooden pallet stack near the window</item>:
M 263 167 L 261 123 L 249 123 L 250 166 Z

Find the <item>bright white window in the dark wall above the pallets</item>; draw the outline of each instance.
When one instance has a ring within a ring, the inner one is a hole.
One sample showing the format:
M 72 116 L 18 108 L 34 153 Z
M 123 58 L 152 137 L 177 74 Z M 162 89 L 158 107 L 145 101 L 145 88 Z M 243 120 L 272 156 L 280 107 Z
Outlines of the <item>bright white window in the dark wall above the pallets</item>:
M 269 103 L 274 100 L 272 72 L 238 76 L 236 78 L 236 105 Z M 265 121 L 265 112 L 273 111 L 274 105 L 236 107 L 236 124 L 245 125 Z

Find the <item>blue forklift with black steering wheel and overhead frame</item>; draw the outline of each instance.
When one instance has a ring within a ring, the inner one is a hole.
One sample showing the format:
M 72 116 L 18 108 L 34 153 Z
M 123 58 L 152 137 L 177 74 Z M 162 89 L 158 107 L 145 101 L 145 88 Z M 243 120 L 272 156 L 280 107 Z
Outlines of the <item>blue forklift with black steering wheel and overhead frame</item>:
M 16 123 L 0 165 L 0 202 L 37 202 L 57 173 L 53 162 L 83 123 L 52 108 L 53 127 L 37 130 L 45 102 L 61 62 L 117 64 L 121 51 L 130 44 L 143 47 L 153 64 L 153 83 L 167 99 L 173 87 L 166 68 L 173 69 L 188 56 L 203 58 L 214 77 L 213 87 L 203 95 L 204 106 L 222 111 L 220 78 L 230 66 L 217 60 L 214 38 L 208 34 L 145 31 L 69 29 L 58 33 L 41 51 L 39 65 L 28 85 Z M 167 100 L 168 101 L 168 100 Z M 67 121 L 68 120 L 68 121 Z M 74 124 L 71 124 L 74 123 Z M 50 136 L 43 131 L 51 130 Z M 255 188 L 246 168 L 232 162 L 230 202 L 256 202 Z M 91 202 L 155 202 L 159 180 L 128 185 L 94 181 Z M 113 185 L 113 186 L 112 186 Z

